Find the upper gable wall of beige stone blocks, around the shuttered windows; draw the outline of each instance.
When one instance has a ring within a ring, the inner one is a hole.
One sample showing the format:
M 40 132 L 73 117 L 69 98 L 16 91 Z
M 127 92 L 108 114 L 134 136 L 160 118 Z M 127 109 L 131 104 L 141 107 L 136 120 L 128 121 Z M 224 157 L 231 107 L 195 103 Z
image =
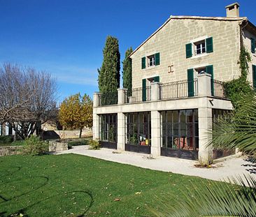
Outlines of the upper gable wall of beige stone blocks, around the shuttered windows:
M 142 86 L 144 78 L 159 76 L 159 82 L 187 80 L 187 69 L 213 65 L 214 79 L 239 77 L 239 20 L 195 20 L 171 18 L 131 55 L 132 87 Z M 213 52 L 186 59 L 185 45 L 197 38 L 213 37 Z M 141 69 L 141 58 L 160 53 L 159 66 Z M 173 73 L 169 72 L 173 65 Z

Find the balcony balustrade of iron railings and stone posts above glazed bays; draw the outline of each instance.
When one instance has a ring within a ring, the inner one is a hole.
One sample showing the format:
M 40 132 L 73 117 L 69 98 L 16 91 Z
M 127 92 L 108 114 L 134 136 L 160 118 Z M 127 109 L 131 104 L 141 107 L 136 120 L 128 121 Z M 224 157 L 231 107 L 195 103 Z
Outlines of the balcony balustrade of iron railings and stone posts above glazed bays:
M 123 105 L 127 103 L 146 103 L 156 100 L 173 100 L 195 96 L 213 96 L 225 98 L 223 82 L 212 80 L 211 75 L 198 75 L 193 81 L 153 82 L 145 88 L 132 89 L 127 96 L 127 89 L 118 89 L 114 93 L 95 93 L 94 107 L 106 105 Z

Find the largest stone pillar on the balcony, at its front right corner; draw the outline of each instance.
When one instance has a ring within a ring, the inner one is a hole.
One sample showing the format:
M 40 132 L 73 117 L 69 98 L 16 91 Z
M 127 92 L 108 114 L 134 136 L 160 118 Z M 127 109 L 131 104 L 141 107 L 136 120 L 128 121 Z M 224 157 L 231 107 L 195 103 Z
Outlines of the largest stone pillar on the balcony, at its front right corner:
M 202 73 L 198 78 L 198 96 L 211 96 L 211 75 Z

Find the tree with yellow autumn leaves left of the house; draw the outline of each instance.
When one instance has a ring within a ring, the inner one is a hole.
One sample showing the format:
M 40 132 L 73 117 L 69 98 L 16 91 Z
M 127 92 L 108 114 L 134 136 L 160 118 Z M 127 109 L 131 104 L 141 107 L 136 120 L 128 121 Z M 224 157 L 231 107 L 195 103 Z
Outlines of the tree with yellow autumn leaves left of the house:
M 79 137 L 82 137 L 84 127 L 92 127 L 92 100 L 80 93 L 66 98 L 59 107 L 59 122 L 65 128 L 80 129 Z

